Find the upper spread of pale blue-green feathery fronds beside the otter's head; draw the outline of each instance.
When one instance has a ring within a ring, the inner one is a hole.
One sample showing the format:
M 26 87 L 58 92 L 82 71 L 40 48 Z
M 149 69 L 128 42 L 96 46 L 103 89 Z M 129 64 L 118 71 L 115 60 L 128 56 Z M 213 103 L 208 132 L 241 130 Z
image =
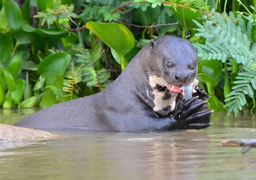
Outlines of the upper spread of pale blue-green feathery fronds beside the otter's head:
M 233 13 L 229 14 L 230 16 L 215 12 L 213 16 L 205 16 L 203 25 L 193 20 L 198 26 L 195 30 L 199 32 L 195 36 L 207 39 L 205 45 L 198 48 L 198 55 L 203 59 L 219 59 L 222 62 L 234 58 L 237 63 L 249 67 L 255 63 L 256 57 L 255 46 L 250 50 L 252 24 L 248 23 L 246 29 L 240 14 L 237 15 L 237 21 L 234 20 Z M 193 45 L 200 46 L 198 43 Z

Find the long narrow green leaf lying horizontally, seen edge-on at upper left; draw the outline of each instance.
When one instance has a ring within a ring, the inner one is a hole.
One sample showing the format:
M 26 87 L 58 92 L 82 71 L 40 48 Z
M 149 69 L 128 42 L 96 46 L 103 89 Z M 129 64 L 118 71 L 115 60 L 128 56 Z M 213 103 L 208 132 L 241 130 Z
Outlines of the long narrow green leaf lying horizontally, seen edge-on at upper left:
M 61 38 L 68 36 L 67 31 L 59 31 L 58 27 L 51 27 L 47 29 L 39 29 L 31 27 L 27 24 L 23 24 L 22 30 L 28 33 L 36 33 L 37 35 L 43 37 L 43 38 Z

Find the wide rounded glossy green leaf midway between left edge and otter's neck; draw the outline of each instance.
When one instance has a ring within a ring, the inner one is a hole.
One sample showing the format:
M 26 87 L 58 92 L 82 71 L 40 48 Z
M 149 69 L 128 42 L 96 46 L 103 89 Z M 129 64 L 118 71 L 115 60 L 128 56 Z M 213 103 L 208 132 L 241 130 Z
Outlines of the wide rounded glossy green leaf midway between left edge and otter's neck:
M 44 74 L 46 85 L 54 82 L 55 75 L 63 75 L 71 57 L 65 52 L 50 54 L 38 65 L 37 74 Z

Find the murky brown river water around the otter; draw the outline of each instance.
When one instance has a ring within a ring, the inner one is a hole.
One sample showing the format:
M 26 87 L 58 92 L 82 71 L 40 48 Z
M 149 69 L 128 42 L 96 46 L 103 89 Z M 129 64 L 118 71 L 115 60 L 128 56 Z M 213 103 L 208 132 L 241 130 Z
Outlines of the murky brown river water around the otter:
M 36 109 L 0 110 L 12 124 Z M 256 149 L 222 147 L 228 138 L 256 138 L 256 117 L 214 112 L 211 127 L 173 133 L 56 131 L 73 137 L 0 145 L 0 179 L 254 179 Z

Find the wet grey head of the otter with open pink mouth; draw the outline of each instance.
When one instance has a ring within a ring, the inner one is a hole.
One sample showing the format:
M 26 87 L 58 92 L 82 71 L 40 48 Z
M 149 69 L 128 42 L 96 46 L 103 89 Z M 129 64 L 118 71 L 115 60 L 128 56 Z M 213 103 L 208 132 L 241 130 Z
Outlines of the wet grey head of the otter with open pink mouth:
M 180 93 L 181 86 L 195 81 L 198 71 L 197 49 L 183 38 L 165 35 L 148 43 L 150 61 L 147 71 L 154 74 L 157 87 Z

